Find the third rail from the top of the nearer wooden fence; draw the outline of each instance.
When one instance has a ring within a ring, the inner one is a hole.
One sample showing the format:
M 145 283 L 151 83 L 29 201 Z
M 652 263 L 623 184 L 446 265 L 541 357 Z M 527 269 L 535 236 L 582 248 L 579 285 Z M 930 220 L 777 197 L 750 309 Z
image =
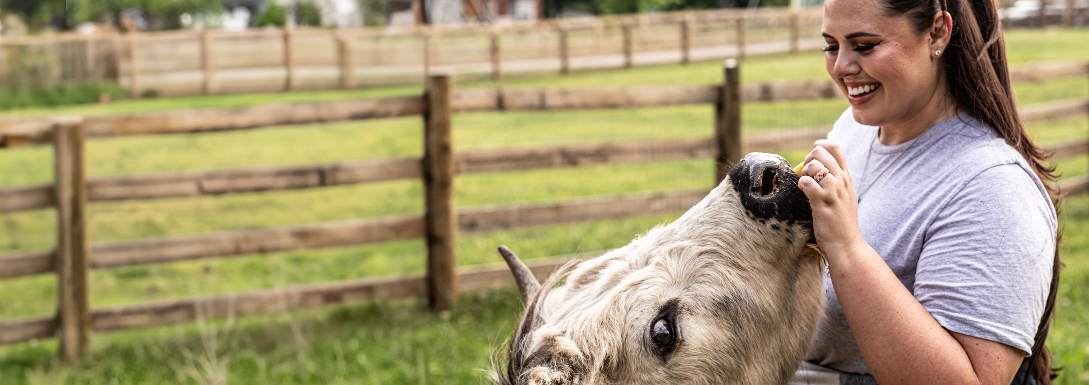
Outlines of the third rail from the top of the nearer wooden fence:
M 669 213 L 687 210 L 706 195 L 706 190 L 658 192 L 530 206 L 469 208 L 457 214 L 457 226 L 461 232 L 482 232 Z M 90 246 L 90 268 L 350 246 L 423 236 L 424 219 L 411 215 L 99 243 Z M 51 251 L 42 251 L 0 258 L 0 278 L 48 273 L 52 268 L 51 257 Z

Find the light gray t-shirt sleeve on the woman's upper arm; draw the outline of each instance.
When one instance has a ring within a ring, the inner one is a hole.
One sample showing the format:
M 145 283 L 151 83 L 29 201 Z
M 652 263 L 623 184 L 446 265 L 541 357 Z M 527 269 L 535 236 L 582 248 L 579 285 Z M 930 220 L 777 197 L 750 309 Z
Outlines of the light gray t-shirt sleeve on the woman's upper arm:
M 945 328 L 1031 350 L 1051 284 L 1056 220 L 1020 165 L 989 167 L 938 213 L 915 297 Z

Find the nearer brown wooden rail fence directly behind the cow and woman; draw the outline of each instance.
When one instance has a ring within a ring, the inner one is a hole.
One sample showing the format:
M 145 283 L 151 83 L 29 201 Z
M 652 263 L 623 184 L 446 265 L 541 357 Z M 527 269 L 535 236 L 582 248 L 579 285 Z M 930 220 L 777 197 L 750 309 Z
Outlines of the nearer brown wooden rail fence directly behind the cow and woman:
M 1086 74 L 1089 74 L 1089 63 L 1082 62 L 1020 67 L 1013 76 L 1024 82 Z M 671 213 L 687 210 L 707 194 L 706 189 L 668 191 L 455 210 L 452 188 L 455 174 L 690 158 L 714 158 L 717 170 L 723 171 L 744 152 L 804 148 L 827 134 L 827 129 L 811 128 L 743 137 L 741 105 L 752 101 L 839 97 L 829 83 L 742 85 L 736 66 L 727 66 L 724 78 L 722 85 L 455 91 L 449 76 L 435 75 L 429 78 L 424 95 L 412 97 L 0 121 L 0 146 L 52 145 L 57 175 L 52 184 L 0 188 L 0 213 L 53 207 L 58 215 L 57 248 L 0 257 L 0 278 L 57 273 L 60 291 L 56 316 L 0 322 L 0 344 L 57 336 L 61 340 L 61 355 L 72 358 L 87 350 L 91 331 L 174 324 L 199 316 L 245 315 L 405 297 L 429 298 L 436 309 L 446 309 L 454 303 L 457 293 L 502 287 L 510 281 L 502 264 L 455 270 L 453 239 L 457 233 Z M 713 137 L 465 152 L 454 152 L 450 141 L 451 116 L 458 111 L 673 104 L 715 105 Z M 1023 108 L 1027 122 L 1087 112 L 1089 98 Z M 421 158 L 85 177 L 83 147 L 86 137 L 199 133 L 405 115 L 424 117 L 425 153 Z M 1081 154 L 1089 152 L 1089 141 L 1079 140 L 1049 150 L 1056 158 Z M 724 175 L 720 172 L 717 177 L 721 181 Z M 89 201 L 272 191 L 409 178 L 424 181 L 426 212 L 421 215 L 94 244 L 86 235 Z M 1089 178 L 1067 178 L 1061 188 L 1068 194 L 1087 191 Z M 427 239 L 428 263 L 424 275 L 320 283 L 100 309 L 90 309 L 88 305 L 89 269 L 409 238 Z M 558 260 L 547 260 L 533 264 L 531 269 L 543 274 L 556 263 Z

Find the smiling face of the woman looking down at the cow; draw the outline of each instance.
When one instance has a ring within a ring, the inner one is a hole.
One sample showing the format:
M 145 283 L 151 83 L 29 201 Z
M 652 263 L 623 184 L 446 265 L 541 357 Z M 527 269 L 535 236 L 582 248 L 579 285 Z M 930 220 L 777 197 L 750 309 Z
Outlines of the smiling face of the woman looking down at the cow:
M 847 96 L 855 121 L 883 126 L 910 119 L 934 97 L 940 61 L 930 30 L 889 17 L 882 0 L 828 0 L 823 33 L 829 75 Z

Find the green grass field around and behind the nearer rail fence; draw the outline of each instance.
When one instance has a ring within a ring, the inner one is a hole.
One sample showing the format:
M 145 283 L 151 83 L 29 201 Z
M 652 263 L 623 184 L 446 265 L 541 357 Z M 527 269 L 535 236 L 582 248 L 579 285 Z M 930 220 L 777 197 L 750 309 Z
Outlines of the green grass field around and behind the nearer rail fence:
M 1011 62 L 1089 58 L 1089 30 L 1015 30 L 1007 36 Z M 717 83 L 718 62 L 639 67 L 506 80 L 510 86 L 598 86 Z M 746 80 L 822 79 L 820 53 L 752 58 L 743 62 Z M 486 83 L 462 83 L 458 87 Z M 45 113 L 115 113 L 176 108 L 246 105 L 418 92 L 417 87 L 352 91 L 232 95 L 121 101 Z M 1086 96 L 1086 77 L 1016 86 L 1021 103 Z M 746 133 L 828 126 L 846 108 L 842 100 L 749 103 Z M 530 147 L 633 139 L 707 137 L 710 107 L 565 112 L 464 113 L 454 120 L 454 146 Z M 1081 139 L 1089 120 L 1075 117 L 1031 126 L 1041 144 Z M 88 144 L 88 172 L 112 175 L 249 165 L 295 164 L 418 156 L 419 117 L 340 122 L 247 132 L 96 139 Z M 804 150 L 784 153 L 797 162 Z M 1066 175 L 1087 172 L 1089 159 L 1059 164 Z M 50 149 L 0 151 L 0 186 L 51 179 Z M 710 160 L 596 165 L 578 169 L 482 173 L 457 178 L 461 207 L 563 200 L 596 195 L 710 187 Z M 213 231 L 258 228 L 317 221 L 415 213 L 423 209 L 418 182 L 391 182 L 321 189 L 243 194 L 154 201 L 103 202 L 90 207 L 94 241 Z M 680 214 L 680 213 L 677 213 Z M 623 221 L 546 226 L 473 234 L 458 238 L 460 264 L 494 262 L 494 246 L 510 245 L 524 258 L 558 256 L 623 246 L 633 236 L 674 219 L 658 215 Z M 1068 266 L 1060 313 L 1051 336 L 1062 384 L 1089 383 L 1089 198 L 1065 203 L 1063 226 Z M 0 215 L 0 253 L 47 249 L 53 244 L 53 213 L 39 210 Z M 421 240 L 290 251 L 219 260 L 109 270 L 91 274 L 93 305 L 109 306 L 192 295 L 423 271 Z M 0 319 L 50 314 L 56 305 L 51 276 L 0 281 Z M 489 367 L 490 351 L 510 333 L 519 305 L 513 293 L 463 298 L 449 320 L 417 301 L 369 303 L 339 309 L 270 314 L 203 325 L 181 325 L 99 334 L 94 355 L 71 367 L 53 361 L 54 344 L 35 341 L 0 348 L 0 384 L 425 384 L 478 383 L 476 369 Z

